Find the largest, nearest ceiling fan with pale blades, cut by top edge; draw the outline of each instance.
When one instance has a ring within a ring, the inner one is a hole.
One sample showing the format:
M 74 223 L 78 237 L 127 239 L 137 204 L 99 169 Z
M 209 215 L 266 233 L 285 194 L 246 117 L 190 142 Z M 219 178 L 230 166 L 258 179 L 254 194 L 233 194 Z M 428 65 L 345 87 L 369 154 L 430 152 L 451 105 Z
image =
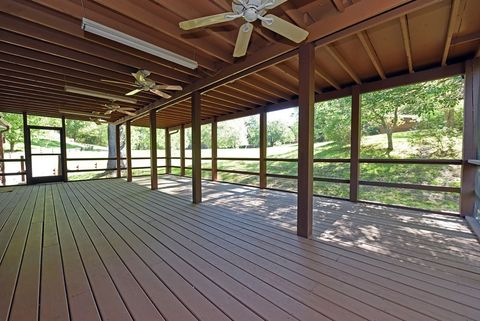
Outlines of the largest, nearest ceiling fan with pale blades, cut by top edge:
M 267 10 L 278 7 L 286 1 L 287 0 L 233 0 L 233 12 L 225 12 L 213 16 L 183 21 L 180 22 L 179 25 L 183 30 L 191 30 L 232 21 L 237 18 L 243 18 L 246 22 L 238 31 L 237 42 L 233 52 L 234 57 L 242 57 L 247 53 L 248 43 L 250 42 L 253 31 L 252 22 L 256 20 L 260 20 L 263 27 L 276 32 L 293 42 L 300 43 L 307 38 L 308 31 L 273 14 L 266 14 Z

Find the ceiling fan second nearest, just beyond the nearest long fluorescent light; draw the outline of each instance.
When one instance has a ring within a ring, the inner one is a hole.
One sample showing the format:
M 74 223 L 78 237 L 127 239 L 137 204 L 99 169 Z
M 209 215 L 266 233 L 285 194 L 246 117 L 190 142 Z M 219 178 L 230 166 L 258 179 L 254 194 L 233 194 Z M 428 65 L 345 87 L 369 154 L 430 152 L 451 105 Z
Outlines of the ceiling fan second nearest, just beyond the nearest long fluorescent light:
M 122 84 L 122 85 L 136 87 L 136 89 L 126 93 L 125 96 L 133 96 L 138 94 L 141 91 L 147 91 L 147 92 L 149 91 L 162 98 L 169 99 L 172 96 L 167 94 L 163 90 L 182 90 L 183 89 L 181 86 L 175 86 L 175 85 L 157 85 L 155 81 L 148 79 L 148 76 L 150 76 L 150 74 L 151 72 L 145 69 L 140 69 L 137 72 L 132 73 L 132 76 L 135 78 L 134 83 L 130 83 L 126 81 L 108 80 L 108 79 L 102 79 L 102 81 L 108 82 L 111 84 Z

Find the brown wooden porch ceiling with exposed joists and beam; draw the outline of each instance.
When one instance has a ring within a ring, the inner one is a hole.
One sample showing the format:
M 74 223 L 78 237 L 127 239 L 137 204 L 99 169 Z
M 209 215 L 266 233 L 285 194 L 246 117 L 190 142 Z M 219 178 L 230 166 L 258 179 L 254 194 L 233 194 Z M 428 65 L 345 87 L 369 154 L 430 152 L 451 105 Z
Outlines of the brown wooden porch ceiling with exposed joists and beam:
M 160 127 L 190 122 L 188 93 L 194 89 L 203 91 L 203 119 L 295 99 L 295 44 L 256 25 L 247 57 L 234 59 L 240 20 L 190 32 L 178 28 L 182 20 L 229 11 L 230 3 L 2 0 L 0 111 L 47 116 L 58 116 L 59 109 L 104 111 L 107 101 L 67 93 L 64 86 L 123 95 L 130 87 L 101 79 L 131 82 L 130 73 L 141 68 L 159 84 L 185 88 L 171 103 L 141 93 L 137 104 L 121 104 L 141 111 L 161 105 Z M 310 31 L 318 93 L 455 63 L 472 58 L 480 47 L 478 0 L 290 0 L 271 13 Z M 82 17 L 194 59 L 199 68 L 192 71 L 85 33 Z M 123 116 L 114 113 L 111 120 Z M 140 118 L 134 124 L 148 122 Z

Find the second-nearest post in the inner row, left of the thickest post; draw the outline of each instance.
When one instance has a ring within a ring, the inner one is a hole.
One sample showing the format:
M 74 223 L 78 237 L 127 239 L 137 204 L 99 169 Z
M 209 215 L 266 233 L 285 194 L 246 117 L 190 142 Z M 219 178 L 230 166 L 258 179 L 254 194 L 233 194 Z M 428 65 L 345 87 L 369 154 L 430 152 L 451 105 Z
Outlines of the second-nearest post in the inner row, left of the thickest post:
M 202 202 L 202 154 L 201 154 L 201 96 L 192 93 L 192 196 L 193 203 Z

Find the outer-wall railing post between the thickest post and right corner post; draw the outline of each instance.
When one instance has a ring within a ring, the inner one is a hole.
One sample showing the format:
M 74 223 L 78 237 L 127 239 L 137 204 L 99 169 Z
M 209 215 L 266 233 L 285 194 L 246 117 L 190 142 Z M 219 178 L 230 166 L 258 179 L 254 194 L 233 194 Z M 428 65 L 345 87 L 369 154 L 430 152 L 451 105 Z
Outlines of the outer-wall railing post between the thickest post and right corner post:
M 361 139 L 360 88 L 352 89 L 351 140 L 350 140 L 350 201 L 358 201 L 360 182 L 360 139 Z

